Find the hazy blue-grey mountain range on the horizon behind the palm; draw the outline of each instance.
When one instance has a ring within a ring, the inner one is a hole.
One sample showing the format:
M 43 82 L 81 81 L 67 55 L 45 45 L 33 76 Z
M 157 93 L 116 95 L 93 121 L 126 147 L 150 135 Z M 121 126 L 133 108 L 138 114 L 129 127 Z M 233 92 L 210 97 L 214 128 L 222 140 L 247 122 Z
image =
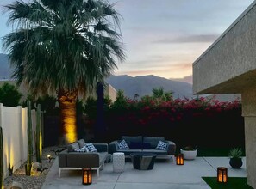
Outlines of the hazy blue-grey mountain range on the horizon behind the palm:
M 12 69 L 9 67 L 7 55 L 0 53 L 0 79 L 9 79 L 11 73 Z M 131 99 L 134 98 L 134 94 L 139 94 L 140 97 L 152 94 L 152 89 L 159 87 L 163 87 L 165 91 L 172 91 L 175 98 L 192 97 L 192 85 L 190 83 L 159 76 L 109 76 L 106 82 L 109 82 L 116 90 L 122 89 L 124 94 Z

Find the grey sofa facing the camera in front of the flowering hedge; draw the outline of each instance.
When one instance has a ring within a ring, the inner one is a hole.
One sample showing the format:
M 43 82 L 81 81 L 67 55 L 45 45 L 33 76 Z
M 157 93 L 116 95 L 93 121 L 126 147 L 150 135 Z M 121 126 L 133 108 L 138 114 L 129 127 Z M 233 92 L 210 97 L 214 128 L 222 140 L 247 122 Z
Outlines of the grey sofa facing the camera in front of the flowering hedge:
M 129 149 L 120 149 L 117 143 L 122 140 L 128 144 Z M 165 149 L 156 149 L 159 141 L 165 142 L 167 144 Z M 130 157 L 130 154 L 136 152 L 149 152 L 156 154 L 158 159 L 169 159 L 173 158 L 176 151 L 176 144 L 172 141 L 165 140 L 165 137 L 130 137 L 122 136 L 121 140 L 116 140 L 109 143 L 109 153 L 123 152 L 126 157 Z

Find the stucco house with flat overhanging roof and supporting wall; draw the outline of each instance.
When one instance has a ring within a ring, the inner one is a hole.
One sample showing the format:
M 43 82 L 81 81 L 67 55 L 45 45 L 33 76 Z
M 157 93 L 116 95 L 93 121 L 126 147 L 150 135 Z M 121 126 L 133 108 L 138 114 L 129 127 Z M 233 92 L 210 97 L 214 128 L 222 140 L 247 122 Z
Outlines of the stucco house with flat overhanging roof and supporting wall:
M 247 184 L 256 188 L 256 2 L 193 63 L 194 94 L 241 94 Z M 227 136 L 228 137 L 228 136 Z

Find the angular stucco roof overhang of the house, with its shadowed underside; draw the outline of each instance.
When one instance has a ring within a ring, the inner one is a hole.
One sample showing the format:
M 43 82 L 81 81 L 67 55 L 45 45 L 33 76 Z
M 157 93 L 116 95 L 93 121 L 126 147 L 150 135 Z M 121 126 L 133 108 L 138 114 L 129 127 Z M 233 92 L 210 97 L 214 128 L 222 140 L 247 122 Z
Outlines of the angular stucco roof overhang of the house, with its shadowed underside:
M 256 84 L 256 2 L 193 64 L 194 94 L 242 93 Z

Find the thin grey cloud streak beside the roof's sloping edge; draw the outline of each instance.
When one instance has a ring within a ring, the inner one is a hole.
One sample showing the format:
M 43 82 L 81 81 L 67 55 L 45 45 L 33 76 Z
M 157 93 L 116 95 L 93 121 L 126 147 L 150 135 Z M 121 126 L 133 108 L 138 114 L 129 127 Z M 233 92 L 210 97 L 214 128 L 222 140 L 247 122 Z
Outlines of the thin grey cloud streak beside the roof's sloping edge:
M 161 40 L 153 41 L 154 43 L 208 43 L 213 42 L 219 37 L 218 34 L 200 34 L 200 35 L 188 35 L 180 36 L 176 38 L 165 38 Z

